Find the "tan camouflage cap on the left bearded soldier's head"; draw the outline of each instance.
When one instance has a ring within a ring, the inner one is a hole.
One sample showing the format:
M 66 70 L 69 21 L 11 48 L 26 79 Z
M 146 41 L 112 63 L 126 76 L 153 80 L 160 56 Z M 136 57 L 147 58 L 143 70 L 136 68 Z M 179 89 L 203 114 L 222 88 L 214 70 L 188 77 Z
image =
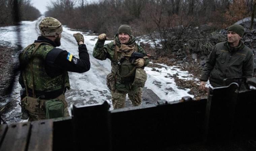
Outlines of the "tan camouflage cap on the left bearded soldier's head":
M 56 36 L 62 33 L 62 25 L 59 20 L 53 17 L 45 17 L 39 23 L 41 36 Z

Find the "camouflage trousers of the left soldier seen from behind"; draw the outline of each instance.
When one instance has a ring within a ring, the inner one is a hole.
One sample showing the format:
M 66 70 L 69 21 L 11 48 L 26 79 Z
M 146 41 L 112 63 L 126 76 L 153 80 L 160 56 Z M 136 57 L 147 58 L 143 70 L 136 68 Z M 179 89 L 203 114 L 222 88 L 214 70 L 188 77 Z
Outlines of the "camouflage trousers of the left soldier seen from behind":
M 55 99 L 61 100 L 64 103 L 64 106 L 65 106 L 64 117 L 68 117 L 69 112 L 68 112 L 67 101 L 65 100 L 65 96 L 60 95 L 59 97 L 57 97 Z M 46 119 L 46 113 L 45 113 L 45 108 L 44 108 L 45 101 L 47 101 L 47 100 L 37 99 L 37 98 L 32 98 L 32 97 L 25 97 L 22 100 L 22 102 L 25 104 L 25 109 L 28 111 L 29 121 Z

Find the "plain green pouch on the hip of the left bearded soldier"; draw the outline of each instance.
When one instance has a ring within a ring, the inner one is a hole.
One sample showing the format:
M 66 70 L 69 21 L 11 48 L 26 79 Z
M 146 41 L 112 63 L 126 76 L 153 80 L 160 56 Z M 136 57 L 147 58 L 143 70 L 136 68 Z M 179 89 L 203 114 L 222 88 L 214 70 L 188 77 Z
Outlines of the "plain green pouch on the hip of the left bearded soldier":
M 45 101 L 46 118 L 64 117 L 64 103 L 59 99 L 51 99 Z

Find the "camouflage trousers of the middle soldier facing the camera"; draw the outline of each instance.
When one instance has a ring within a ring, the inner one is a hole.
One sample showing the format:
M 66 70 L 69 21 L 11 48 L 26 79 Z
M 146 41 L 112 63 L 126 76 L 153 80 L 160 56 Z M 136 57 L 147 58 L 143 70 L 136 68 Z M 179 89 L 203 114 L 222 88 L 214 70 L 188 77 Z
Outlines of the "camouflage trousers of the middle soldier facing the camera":
M 133 106 L 139 106 L 141 104 L 142 92 L 141 88 L 131 90 L 129 92 L 125 91 L 111 91 L 112 104 L 114 109 L 124 108 L 125 107 L 125 98 L 128 93 L 128 97 L 132 102 Z

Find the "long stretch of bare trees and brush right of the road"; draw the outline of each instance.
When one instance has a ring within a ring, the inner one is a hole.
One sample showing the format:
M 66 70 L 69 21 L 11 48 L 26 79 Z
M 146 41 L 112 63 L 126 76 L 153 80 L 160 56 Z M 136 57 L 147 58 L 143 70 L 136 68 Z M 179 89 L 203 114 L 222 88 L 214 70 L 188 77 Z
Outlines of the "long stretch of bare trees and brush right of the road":
M 57 0 L 45 16 L 57 18 L 70 28 L 105 33 L 112 38 L 121 24 L 134 36 L 147 35 L 159 53 L 168 54 L 184 43 L 195 27 L 225 29 L 250 17 L 256 0 Z M 205 27 L 205 26 L 204 26 Z M 160 42 L 159 42 L 160 41 Z

